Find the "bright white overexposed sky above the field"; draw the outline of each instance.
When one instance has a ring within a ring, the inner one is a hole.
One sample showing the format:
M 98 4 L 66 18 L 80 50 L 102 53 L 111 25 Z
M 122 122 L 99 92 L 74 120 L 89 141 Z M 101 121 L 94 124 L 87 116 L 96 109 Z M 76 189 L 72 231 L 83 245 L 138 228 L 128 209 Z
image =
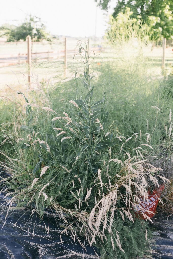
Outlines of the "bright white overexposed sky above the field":
M 116 0 L 111 5 L 115 6 Z M 94 0 L 2 0 L 0 25 L 18 25 L 26 15 L 36 15 L 52 34 L 72 37 L 102 37 L 109 14 L 96 6 Z

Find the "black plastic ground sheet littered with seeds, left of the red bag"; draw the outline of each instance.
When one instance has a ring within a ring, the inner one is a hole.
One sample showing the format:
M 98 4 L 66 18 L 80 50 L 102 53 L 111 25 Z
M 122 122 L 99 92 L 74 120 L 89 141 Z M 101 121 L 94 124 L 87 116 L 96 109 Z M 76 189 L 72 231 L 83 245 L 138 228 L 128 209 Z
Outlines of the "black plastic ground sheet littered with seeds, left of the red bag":
M 98 258 L 92 247 L 85 243 L 85 251 L 69 236 L 61 235 L 61 243 L 59 232 L 63 229 L 57 227 L 57 219 L 53 216 L 46 215 L 40 221 L 36 213 L 30 217 L 31 212 L 13 209 L 4 226 L 6 210 L 1 214 L 0 227 L 3 228 L 0 230 L 0 259 Z M 44 225 L 48 226 L 48 222 L 49 235 Z M 81 238 L 81 241 L 84 243 L 85 239 Z

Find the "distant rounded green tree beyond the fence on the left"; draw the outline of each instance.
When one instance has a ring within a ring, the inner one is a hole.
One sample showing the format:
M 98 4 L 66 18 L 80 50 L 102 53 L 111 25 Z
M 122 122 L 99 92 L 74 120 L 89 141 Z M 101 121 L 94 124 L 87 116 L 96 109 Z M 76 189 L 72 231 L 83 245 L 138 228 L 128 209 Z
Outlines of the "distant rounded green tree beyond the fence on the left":
M 28 35 L 31 36 L 32 41 L 41 41 L 43 39 L 50 40 L 50 36 L 46 33 L 46 27 L 41 22 L 40 18 L 36 16 L 29 16 L 25 18 L 25 21 L 16 28 L 9 28 L 2 26 L 1 30 L 4 30 L 4 35 L 7 35 L 8 42 L 11 41 L 26 41 Z

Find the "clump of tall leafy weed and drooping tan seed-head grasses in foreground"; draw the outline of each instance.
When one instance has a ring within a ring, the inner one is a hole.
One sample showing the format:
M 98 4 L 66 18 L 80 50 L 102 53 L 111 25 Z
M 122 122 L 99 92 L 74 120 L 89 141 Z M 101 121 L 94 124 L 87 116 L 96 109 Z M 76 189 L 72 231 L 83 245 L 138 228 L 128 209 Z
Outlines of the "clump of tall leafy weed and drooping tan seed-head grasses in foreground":
M 83 247 L 80 235 L 85 236 L 103 258 L 130 258 L 129 251 L 133 256 L 139 254 L 134 243 L 140 243 L 141 233 L 141 240 L 147 239 L 144 222 L 135 216 L 136 205 L 140 197 L 148 199 L 150 183 L 159 186 L 156 174 L 159 177 L 161 169 L 142 155 L 143 148 L 152 149 L 150 145 L 127 148 L 138 134 L 126 139 L 115 130 L 108 119 L 106 94 L 101 100 L 94 98 L 93 76 L 89 74 L 93 58 L 87 44 L 79 43 L 79 55 L 84 63 L 84 91 L 80 97 L 77 91 L 77 98 L 71 98 L 65 110 L 29 103 L 24 96 L 27 124 L 20 127 L 15 147 L 16 155 L 22 157 L 9 157 L 9 167 L 2 164 L 11 174 L 4 181 L 5 191 L 12 195 L 6 201 L 7 215 L 13 203 L 40 217 L 49 209 L 63 222 L 61 234 L 70 235 Z M 40 127 L 39 116 L 46 118 Z M 26 166 L 31 154 L 33 169 Z M 151 220 L 146 214 L 144 217 Z M 130 226 L 133 229 L 127 231 Z M 49 232 L 49 225 L 46 229 Z

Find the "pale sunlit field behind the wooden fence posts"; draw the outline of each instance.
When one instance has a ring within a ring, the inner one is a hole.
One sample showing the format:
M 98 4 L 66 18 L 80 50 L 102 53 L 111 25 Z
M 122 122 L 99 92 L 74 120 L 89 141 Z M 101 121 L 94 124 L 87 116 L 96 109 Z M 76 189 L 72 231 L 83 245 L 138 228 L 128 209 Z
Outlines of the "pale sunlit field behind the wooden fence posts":
M 32 53 L 39 52 L 53 52 L 44 54 L 35 54 L 34 58 L 37 57 L 37 62 L 34 60 L 32 62 L 32 86 L 36 85 L 39 81 L 50 80 L 50 84 L 58 83 L 60 79 L 64 79 L 64 38 L 59 40 L 54 40 L 53 42 L 33 42 L 32 43 Z M 67 39 L 67 77 L 71 78 L 74 76 L 76 71 L 82 72 L 80 69 L 81 65 L 79 62 L 79 57 L 76 56 L 73 60 L 75 52 L 70 50 L 76 49 L 76 44 L 78 40 L 86 41 L 86 39 L 68 38 Z M 103 61 L 112 61 L 113 66 L 117 67 L 119 64 L 117 60 L 121 59 L 128 60 L 130 65 L 133 52 L 134 55 L 139 55 L 139 48 L 136 46 L 136 42 L 132 42 L 130 46 L 124 45 L 121 49 L 117 46 L 112 48 L 103 40 L 90 40 L 90 50 L 98 48 L 95 51 L 96 54 L 101 54 Z M 76 49 L 77 51 L 77 49 Z M 137 53 L 136 53 L 137 52 Z M 12 43 L 1 43 L 0 44 L 0 58 L 4 57 L 15 57 L 20 55 L 21 57 L 27 53 L 27 43 L 26 42 L 12 42 Z M 121 53 L 121 54 L 120 54 Z M 150 73 L 151 67 L 153 68 L 153 74 L 161 75 L 161 63 L 162 63 L 162 46 L 153 47 L 152 44 L 147 47 L 141 48 L 141 55 L 146 57 L 146 64 L 150 63 Z M 129 57 L 129 59 L 128 59 Z M 44 58 L 44 60 L 42 60 Z M 95 59 L 97 62 L 99 59 Z M 4 61 L 0 61 L 0 91 L 5 91 L 8 85 L 9 87 L 21 89 L 27 88 L 27 64 L 22 63 L 26 60 L 12 61 L 13 65 L 8 65 Z M 5 61 L 7 62 L 7 61 Z M 9 61 L 8 61 L 9 62 Z M 16 64 L 15 64 L 16 62 Z M 99 61 L 100 62 L 100 61 Z M 152 66 L 151 66 L 152 64 Z M 171 71 L 171 65 L 173 64 L 173 51 L 172 47 L 168 46 L 165 53 L 165 69 L 166 73 L 169 74 Z

